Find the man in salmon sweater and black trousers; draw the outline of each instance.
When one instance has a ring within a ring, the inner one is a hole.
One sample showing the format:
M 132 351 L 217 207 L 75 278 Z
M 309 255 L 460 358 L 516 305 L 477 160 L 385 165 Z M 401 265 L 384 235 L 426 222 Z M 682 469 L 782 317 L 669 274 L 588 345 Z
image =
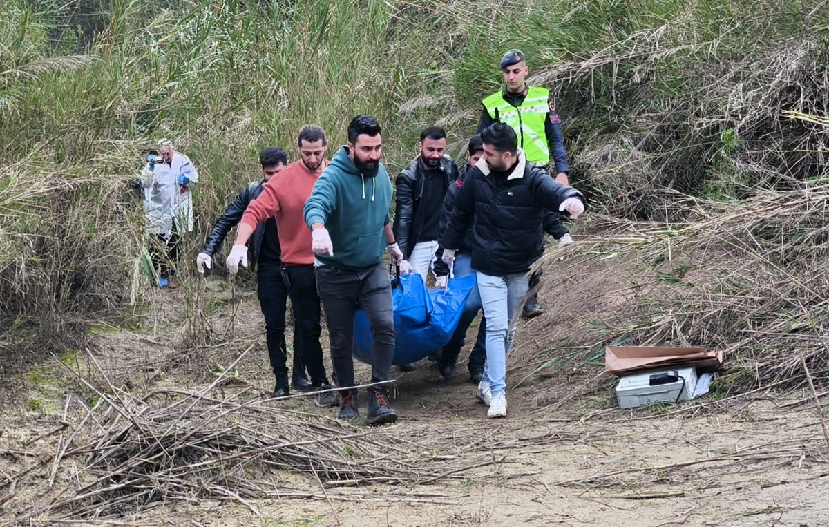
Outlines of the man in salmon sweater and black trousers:
M 299 130 L 297 146 L 300 160 L 272 177 L 259 197 L 251 201 L 245 210 L 235 244 L 227 257 L 227 268 L 230 273 L 236 273 L 239 263 L 247 267 L 246 244 L 250 235 L 260 221 L 275 217 L 282 246 L 284 292 L 291 298 L 293 317 L 299 331 L 300 349 L 294 352 L 300 354 L 308 367 L 311 384 L 318 392 L 314 402 L 320 407 L 337 406 L 340 404 L 339 397 L 331 391 L 325 365 L 322 364 L 320 302 L 313 267 L 311 231 L 303 221 L 305 201 L 328 165 L 325 159 L 328 140 L 322 128 L 311 124 Z M 287 375 L 285 379 L 276 381 L 278 388 L 280 382 L 284 383 L 284 394 L 287 394 Z

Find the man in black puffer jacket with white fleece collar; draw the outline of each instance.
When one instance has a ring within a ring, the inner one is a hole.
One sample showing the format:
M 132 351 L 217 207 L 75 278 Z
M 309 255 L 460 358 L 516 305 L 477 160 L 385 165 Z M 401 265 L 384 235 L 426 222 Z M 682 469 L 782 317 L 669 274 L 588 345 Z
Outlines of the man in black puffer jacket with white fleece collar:
M 507 352 L 527 292 L 526 273 L 541 256 L 546 210 L 576 218 L 584 212 L 584 196 L 531 167 L 507 124 L 492 124 L 481 138 L 483 158 L 463 181 L 441 245 L 451 266 L 473 227 L 472 267 L 487 317 L 487 366 L 478 398 L 489 404 L 487 417 L 500 418 L 507 416 Z

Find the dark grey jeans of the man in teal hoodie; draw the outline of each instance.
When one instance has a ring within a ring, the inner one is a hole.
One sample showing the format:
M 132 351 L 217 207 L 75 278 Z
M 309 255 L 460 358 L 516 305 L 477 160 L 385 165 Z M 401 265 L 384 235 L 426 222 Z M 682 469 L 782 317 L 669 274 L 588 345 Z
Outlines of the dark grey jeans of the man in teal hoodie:
M 354 312 L 360 307 L 371 324 L 374 348 L 371 350 L 371 382 L 389 380 L 395 356 L 395 320 L 391 307 L 391 283 L 382 263 L 347 271 L 323 266 L 317 268 L 317 287 L 331 338 L 331 360 L 337 384 L 354 385 Z

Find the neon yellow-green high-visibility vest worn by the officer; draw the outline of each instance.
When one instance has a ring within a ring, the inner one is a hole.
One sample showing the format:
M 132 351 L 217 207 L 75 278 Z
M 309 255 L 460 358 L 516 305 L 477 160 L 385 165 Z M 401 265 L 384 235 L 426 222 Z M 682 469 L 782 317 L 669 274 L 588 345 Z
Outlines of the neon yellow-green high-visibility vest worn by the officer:
M 482 101 L 492 119 L 509 124 L 516 131 L 518 146 L 524 150 L 528 162 L 550 162 L 550 144 L 544 131 L 550 111 L 549 98 L 549 89 L 531 86 L 518 108 L 507 103 L 500 91 Z

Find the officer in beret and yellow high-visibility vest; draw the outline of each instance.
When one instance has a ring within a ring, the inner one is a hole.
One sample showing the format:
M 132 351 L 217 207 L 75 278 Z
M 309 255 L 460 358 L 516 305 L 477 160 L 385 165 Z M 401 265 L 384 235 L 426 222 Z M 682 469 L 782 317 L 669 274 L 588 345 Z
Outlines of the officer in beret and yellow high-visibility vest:
M 530 68 L 520 50 L 510 50 L 502 56 L 501 72 L 504 75 L 504 88 L 483 99 L 478 133 L 492 123 L 509 124 L 518 136 L 518 146 L 524 151 L 526 160 L 548 168 L 552 157 L 555 181 L 569 185 L 561 118 L 555 111 L 555 101 L 550 90 L 526 84 Z M 552 228 L 549 228 L 548 222 L 554 224 Z M 565 225 L 561 224 L 560 215 L 555 211 L 550 211 L 545 219 L 545 230 L 551 231 L 561 244 L 573 241 Z M 538 278 L 537 274 L 531 277 L 531 288 L 537 285 Z M 536 295 L 532 295 L 524 305 L 524 315 L 534 317 L 541 312 Z

